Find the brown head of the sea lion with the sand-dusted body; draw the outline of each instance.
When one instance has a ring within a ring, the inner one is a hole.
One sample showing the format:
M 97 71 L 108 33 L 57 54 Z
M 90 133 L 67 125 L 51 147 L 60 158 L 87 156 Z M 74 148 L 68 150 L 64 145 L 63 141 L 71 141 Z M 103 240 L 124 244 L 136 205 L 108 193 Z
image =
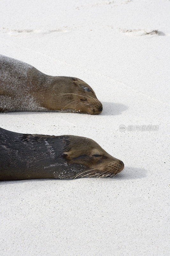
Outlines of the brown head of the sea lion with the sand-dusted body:
M 101 102 L 93 89 L 81 79 L 58 76 L 56 84 L 55 100 L 56 104 L 59 102 L 59 110 L 91 115 L 101 113 L 103 109 Z

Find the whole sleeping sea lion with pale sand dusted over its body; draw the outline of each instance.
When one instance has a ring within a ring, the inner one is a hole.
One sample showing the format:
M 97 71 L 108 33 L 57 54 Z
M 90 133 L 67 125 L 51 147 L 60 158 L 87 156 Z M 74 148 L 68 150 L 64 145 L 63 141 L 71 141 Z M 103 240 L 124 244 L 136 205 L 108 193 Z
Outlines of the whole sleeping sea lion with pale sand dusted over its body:
M 33 66 L 0 55 L 0 112 L 65 111 L 91 115 L 103 107 L 81 79 L 48 76 Z

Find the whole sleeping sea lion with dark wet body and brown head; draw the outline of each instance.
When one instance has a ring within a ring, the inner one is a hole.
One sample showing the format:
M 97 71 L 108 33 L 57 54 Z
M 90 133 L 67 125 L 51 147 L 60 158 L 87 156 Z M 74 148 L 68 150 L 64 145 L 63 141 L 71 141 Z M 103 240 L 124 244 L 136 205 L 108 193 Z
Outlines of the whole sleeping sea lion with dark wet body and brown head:
M 0 180 L 110 177 L 124 164 L 94 140 L 22 134 L 0 128 Z

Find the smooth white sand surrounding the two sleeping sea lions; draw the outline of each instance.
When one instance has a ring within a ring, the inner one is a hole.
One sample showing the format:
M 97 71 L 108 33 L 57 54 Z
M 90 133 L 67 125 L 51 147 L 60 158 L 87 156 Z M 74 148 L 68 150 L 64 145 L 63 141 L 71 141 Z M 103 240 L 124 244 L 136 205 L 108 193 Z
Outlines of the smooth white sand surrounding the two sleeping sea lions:
M 1 54 L 79 77 L 103 103 L 100 116 L 4 113 L 0 126 L 89 137 L 125 164 L 114 179 L 1 182 L 0 255 L 168 255 L 170 2 L 0 5 Z M 159 130 L 120 132 L 120 124 Z

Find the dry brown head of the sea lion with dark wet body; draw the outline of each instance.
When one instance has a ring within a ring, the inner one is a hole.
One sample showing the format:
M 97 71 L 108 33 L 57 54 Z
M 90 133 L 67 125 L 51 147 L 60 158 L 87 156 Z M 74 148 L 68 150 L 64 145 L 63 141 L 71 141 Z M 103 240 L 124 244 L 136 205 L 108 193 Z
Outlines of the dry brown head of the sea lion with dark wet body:
M 109 177 L 123 170 L 123 162 L 109 155 L 94 140 L 71 135 L 68 139 L 69 150 L 63 152 L 63 157 L 70 166 L 76 166 L 72 178 Z

